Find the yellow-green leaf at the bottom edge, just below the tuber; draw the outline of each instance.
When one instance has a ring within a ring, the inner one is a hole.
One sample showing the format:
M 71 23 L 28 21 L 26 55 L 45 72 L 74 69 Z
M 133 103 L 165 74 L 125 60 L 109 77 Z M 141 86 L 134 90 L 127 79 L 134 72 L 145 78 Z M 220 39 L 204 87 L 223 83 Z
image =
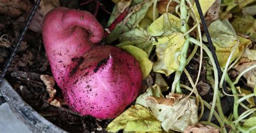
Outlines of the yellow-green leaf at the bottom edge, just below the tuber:
M 120 129 L 124 131 L 161 131 L 161 122 L 154 117 L 152 112 L 141 106 L 134 105 L 125 110 L 116 117 L 106 130 L 108 132 L 117 132 Z

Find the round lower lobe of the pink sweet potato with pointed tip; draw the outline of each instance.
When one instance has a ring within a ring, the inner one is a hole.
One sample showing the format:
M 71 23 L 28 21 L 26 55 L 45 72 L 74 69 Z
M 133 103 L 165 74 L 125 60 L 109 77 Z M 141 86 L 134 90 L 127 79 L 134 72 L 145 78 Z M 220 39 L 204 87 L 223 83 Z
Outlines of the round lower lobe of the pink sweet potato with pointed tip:
M 139 93 L 142 74 L 138 62 L 113 46 L 97 46 L 83 59 L 66 84 L 66 101 L 82 115 L 116 117 Z

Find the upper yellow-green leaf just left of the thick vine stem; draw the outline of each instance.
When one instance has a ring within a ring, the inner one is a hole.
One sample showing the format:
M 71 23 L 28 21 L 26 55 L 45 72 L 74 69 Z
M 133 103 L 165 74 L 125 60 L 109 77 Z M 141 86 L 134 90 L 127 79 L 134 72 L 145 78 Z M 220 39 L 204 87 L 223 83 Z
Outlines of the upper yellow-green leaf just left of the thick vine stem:
M 159 36 L 166 31 L 180 31 L 180 19 L 171 13 L 162 14 L 156 21 L 148 28 L 152 36 Z

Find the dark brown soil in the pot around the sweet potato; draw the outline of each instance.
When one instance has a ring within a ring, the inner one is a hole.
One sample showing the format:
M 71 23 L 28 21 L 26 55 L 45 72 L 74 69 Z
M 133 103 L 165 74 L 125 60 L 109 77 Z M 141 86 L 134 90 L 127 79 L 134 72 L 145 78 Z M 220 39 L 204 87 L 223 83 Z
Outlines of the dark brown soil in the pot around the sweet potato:
M 109 3 L 111 2 L 105 2 L 103 4 L 107 7 L 106 10 L 111 12 L 113 4 L 111 5 Z M 76 6 L 79 6 L 79 8 L 83 10 L 89 5 Z M 26 18 L 28 18 L 29 11 L 30 10 L 23 11 L 23 13 L 19 14 L 16 18 L 8 16 L 8 14 L 0 14 L 0 35 L 2 36 L 2 40 L 0 40 L 1 70 L 3 70 L 3 66 L 15 46 L 19 32 L 22 30 Z M 104 10 L 99 10 L 97 18 L 104 26 L 109 18 L 109 14 Z M 101 62 L 101 64 L 102 63 L 104 63 L 104 61 Z M 194 58 L 186 67 L 194 82 L 196 81 L 198 67 L 199 61 L 196 58 Z M 22 45 L 15 56 L 15 60 L 12 62 L 5 78 L 33 109 L 58 127 L 69 132 L 106 132 L 106 126 L 112 120 L 97 120 L 91 116 L 81 116 L 69 110 L 69 107 L 65 106 L 65 104 L 63 104 L 62 107 L 50 105 L 47 101 L 49 94 L 46 92 L 45 85 L 40 79 L 40 75 L 42 74 L 52 76 L 44 50 L 42 35 L 29 30 L 26 33 Z M 188 79 L 185 78 L 186 76 L 184 73 L 182 77 L 184 78 L 181 79 L 181 82 L 187 86 L 191 86 Z M 164 78 L 171 86 L 174 75 L 172 74 L 171 76 Z M 202 69 L 199 81 L 203 82 L 202 84 L 207 84 L 206 68 Z M 55 98 L 63 101 L 63 96 L 58 86 L 55 85 L 54 87 L 57 90 Z M 203 99 L 208 102 L 212 100 L 213 92 L 211 90 L 212 89 L 202 96 Z M 168 92 L 166 92 L 166 94 L 167 93 Z M 189 92 L 184 91 L 184 93 Z

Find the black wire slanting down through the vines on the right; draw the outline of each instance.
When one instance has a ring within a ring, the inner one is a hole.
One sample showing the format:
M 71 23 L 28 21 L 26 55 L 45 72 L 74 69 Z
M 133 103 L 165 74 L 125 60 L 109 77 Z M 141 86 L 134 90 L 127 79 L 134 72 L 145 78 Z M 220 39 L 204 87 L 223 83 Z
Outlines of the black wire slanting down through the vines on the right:
M 203 28 L 204 28 L 204 31 L 205 31 L 205 35 L 206 35 L 206 38 L 207 38 L 207 41 L 209 43 L 209 46 L 210 46 L 210 50 L 212 52 L 212 55 L 213 55 L 213 58 L 214 58 L 214 62 L 215 64 L 217 65 L 217 70 L 218 70 L 218 76 L 219 78 L 222 77 L 223 73 L 220 69 L 220 64 L 219 64 L 219 61 L 218 61 L 218 58 L 217 58 L 217 55 L 215 53 L 215 49 L 212 45 L 212 39 L 211 39 L 211 36 L 210 36 L 210 33 L 208 31 L 208 28 L 207 28 L 207 25 L 206 25 L 206 22 L 205 22 L 205 18 L 204 18 L 204 14 L 203 14 L 203 11 L 201 9 L 201 6 L 200 6 L 200 3 L 198 0 L 195 0 L 194 1 L 196 3 L 196 6 L 197 6 L 197 10 L 198 10 L 198 13 L 199 13 L 199 16 L 200 16 L 200 19 L 201 19 L 201 23 L 203 25 Z M 216 81 L 217 82 L 217 81 Z M 227 92 L 227 85 L 226 85 L 226 82 L 224 81 L 223 82 L 223 88 L 224 88 L 224 91 Z M 230 101 L 230 104 L 232 105 L 232 102 Z

